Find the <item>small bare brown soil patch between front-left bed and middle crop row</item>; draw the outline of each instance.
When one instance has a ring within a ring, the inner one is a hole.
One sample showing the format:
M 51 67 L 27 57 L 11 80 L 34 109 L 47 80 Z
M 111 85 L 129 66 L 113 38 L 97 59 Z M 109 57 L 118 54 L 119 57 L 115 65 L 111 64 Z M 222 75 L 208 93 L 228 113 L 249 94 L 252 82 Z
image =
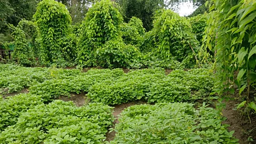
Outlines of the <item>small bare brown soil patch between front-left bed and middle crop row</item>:
M 61 96 L 59 99 L 63 101 L 73 101 L 77 107 L 82 107 L 90 102 L 90 99 L 85 97 L 86 93 L 71 93 L 70 97 Z

